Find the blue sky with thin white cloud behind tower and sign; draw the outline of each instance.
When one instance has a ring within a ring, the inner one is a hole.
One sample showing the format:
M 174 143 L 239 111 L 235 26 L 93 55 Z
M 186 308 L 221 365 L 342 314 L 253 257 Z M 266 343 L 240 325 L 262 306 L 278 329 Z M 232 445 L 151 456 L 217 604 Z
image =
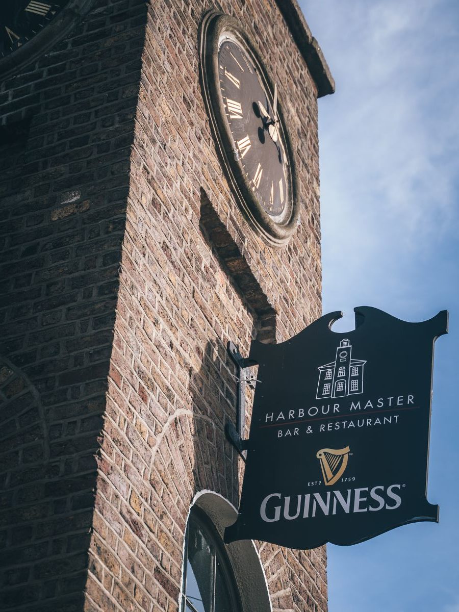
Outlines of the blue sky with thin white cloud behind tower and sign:
M 323 312 L 449 310 L 428 501 L 440 522 L 328 545 L 329 612 L 459 612 L 459 2 L 300 0 L 336 81 L 319 99 Z

